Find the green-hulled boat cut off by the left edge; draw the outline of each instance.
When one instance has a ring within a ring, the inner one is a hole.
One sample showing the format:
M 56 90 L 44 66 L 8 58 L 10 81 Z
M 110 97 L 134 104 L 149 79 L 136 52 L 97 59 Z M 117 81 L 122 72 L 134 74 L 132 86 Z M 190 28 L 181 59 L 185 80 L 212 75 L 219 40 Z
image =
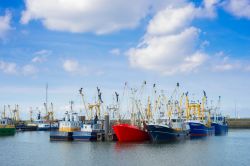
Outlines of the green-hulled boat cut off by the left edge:
M 0 136 L 15 135 L 16 128 L 14 122 L 10 118 L 0 119 Z

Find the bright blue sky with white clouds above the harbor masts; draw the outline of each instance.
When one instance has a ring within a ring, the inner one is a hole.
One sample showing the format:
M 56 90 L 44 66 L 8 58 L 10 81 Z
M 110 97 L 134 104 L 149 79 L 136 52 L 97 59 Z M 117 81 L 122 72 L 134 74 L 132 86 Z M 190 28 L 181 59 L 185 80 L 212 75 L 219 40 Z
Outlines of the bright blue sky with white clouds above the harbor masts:
M 250 1 L 0 0 L 0 112 L 44 111 L 46 83 L 61 116 L 71 100 L 83 107 L 81 87 L 108 105 L 144 80 L 250 117 Z

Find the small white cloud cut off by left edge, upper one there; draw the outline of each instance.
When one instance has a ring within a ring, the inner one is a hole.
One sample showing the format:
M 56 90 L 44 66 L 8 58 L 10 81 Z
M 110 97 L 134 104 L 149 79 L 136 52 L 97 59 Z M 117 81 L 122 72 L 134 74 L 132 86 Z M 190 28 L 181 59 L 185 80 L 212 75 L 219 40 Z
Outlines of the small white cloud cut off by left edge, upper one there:
M 4 38 L 6 33 L 11 30 L 11 13 L 6 11 L 4 16 L 0 16 L 0 38 Z

